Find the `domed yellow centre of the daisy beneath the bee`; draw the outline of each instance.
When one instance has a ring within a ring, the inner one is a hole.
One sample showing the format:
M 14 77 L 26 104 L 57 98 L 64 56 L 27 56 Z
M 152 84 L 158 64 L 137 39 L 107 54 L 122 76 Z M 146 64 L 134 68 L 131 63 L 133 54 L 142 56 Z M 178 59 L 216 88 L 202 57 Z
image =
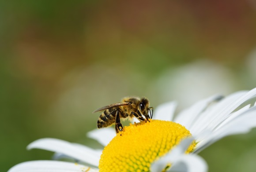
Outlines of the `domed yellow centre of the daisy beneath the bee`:
M 99 162 L 99 171 L 150 172 L 152 162 L 190 136 L 184 126 L 171 121 L 150 120 L 130 124 L 105 146 Z M 194 141 L 186 153 L 192 152 L 195 146 Z

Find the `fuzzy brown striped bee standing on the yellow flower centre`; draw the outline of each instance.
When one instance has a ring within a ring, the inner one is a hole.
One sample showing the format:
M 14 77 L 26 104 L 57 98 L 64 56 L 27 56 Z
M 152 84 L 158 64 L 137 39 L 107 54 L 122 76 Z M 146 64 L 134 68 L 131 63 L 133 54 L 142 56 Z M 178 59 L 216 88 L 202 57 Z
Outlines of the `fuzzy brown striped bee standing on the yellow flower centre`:
M 97 126 L 98 128 L 108 127 L 113 123 L 116 124 L 116 132 L 123 131 L 123 125 L 120 118 L 136 117 L 139 121 L 149 121 L 153 116 L 153 107 L 150 107 L 149 100 L 145 97 L 124 97 L 121 102 L 101 107 L 94 112 L 102 111 Z M 152 110 L 152 113 L 151 113 Z M 149 114 L 150 113 L 150 114 Z

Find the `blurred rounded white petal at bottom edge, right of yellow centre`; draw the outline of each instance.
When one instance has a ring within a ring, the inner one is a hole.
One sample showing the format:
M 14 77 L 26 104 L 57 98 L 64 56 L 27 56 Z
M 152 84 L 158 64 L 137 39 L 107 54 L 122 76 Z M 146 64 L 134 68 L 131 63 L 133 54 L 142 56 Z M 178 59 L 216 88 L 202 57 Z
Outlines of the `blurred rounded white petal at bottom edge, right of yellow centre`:
M 207 172 L 206 161 L 196 154 L 183 154 L 173 163 L 168 172 Z

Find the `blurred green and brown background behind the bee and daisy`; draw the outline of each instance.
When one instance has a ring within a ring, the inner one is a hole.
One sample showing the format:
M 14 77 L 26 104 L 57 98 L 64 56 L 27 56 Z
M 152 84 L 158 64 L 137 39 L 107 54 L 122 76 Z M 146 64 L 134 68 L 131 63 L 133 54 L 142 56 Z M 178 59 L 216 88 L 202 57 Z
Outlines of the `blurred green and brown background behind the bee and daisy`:
M 254 88 L 255 21 L 252 0 L 1 0 L 0 171 L 49 159 L 25 149 L 39 138 L 95 146 L 91 112 L 126 95 L 181 109 Z M 210 172 L 252 171 L 255 136 L 230 136 L 200 155 Z

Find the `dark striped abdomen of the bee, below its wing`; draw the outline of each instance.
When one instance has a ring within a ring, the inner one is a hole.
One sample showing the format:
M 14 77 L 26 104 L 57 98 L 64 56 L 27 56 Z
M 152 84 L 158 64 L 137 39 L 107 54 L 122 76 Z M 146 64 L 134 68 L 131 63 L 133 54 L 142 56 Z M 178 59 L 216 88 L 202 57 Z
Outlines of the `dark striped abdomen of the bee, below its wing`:
M 98 128 L 108 127 L 113 124 L 116 119 L 116 110 L 107 109 L 99 117 L 97 126 Z

